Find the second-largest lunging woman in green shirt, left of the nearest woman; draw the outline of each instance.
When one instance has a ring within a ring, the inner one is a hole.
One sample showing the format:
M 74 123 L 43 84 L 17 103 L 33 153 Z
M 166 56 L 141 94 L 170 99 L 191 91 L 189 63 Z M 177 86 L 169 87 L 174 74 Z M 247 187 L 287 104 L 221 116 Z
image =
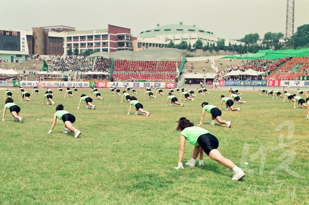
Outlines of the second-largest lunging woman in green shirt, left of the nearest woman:
M 55 125 L 56 125 L 56 121 L 57 118 L 59 120 L 62 120 L 64 122 L 64 125 L 66 126 L 64 128 L 64 130 L 62 131 L 62 133 L 67 134 L 68 131 L 70 130 L 71 132 L 75 133 L 75 138 L 78 138 L 82 133 L 81 131 L 77 130 L 75 127 L 73 127 L 72 123 L 75 122 L 75 117 L 74 115 L 70 114 L 68 111 L 63 110 L 63 105 L 57 105 L 56 107 L 56 113 L 54 114 L 54 121 L 53 121 L 53 125 L 52 128 L 50 128 L 48 134 L 51 134 Z

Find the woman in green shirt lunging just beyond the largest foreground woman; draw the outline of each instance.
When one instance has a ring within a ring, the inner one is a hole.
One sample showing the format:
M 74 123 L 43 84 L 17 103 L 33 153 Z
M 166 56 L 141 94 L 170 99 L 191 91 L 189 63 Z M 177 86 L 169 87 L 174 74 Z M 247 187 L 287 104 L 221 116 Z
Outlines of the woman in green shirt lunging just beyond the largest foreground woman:
M 201 121 L 200 121 L 200 124 L 198 124 L 198 125 L 204 124 L 203 119 L 204 119 L 205 112 L 207 112 L 207 113 L 211 114 L 212 121 L 211 121 L 210 125 L 214 125 L 214 120 L 216 119 L 220 124 L 222 124 L 222 125 L 226 124 L 227 128 L 231 128 L 232 122 L 222 120 L 221 117 L 220 117 L 222 115 L 222 112 L 216 106 L 208 105 L 208 102 L 203 102 L 202 108 L 203 109 L 202 109 Z

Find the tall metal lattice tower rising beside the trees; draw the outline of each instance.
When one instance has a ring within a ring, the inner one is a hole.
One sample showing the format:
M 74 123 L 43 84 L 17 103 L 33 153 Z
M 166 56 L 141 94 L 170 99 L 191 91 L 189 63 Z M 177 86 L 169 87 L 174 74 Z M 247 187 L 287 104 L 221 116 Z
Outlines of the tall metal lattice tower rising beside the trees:
M 294 48 L 294 0 L 286 0 L 286 48 L 287 47 Z

